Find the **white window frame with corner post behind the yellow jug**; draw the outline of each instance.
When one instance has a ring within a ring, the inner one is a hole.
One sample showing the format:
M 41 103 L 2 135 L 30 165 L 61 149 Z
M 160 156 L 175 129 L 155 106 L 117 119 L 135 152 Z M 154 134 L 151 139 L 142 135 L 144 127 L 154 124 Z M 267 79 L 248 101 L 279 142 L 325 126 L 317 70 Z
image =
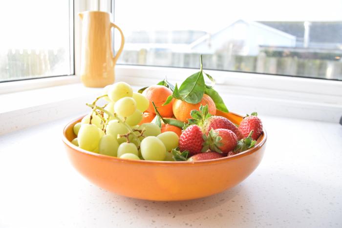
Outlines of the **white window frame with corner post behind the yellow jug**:
M 42 88 L 48 86 L 62 85 L 68 83 L 80 83 L 80 57 L 81 57 L 81 20 L 78 12 L 85 10 L 101 10 L 112 13 L 114 21 L 114 4 L 115 0 L 70 0 L 73 2 L 73 54 L 74 54 L 74 75 L 71 76 L 54 76 L 50 78 L 38 78 L 34 80 L 13 81 L 0 83 L 0 94 L 27 89 Z M 71 33 L 70 33 L 71 34 Z M 114 42 L 114 41 L 113 41 Z M 116 65 L 116 75 L 121 75 L 128 81 L 134 78 L 136 83 L 144 83 L 146 80 L 159 80 L 161 77 L 168 75 L 172 80 L 182 81 L 184 76 L 190 75 L 194 69 L 163 67 L 163 66 L 142 66 L 142 65 Z M 305 77 L 291 77 L 280 75 L 269 75 L 251 72 L 237 72 L 225 70 L 206 70 L 215 76 L 217 84 L 242 86 L 245 88 L 263 88 L 273 90 L 275 93 L 281 91 L 285 94 L 289 93 L 305 93 L 312 94 L 312 97 L 320 96 L 337 96 L 342 98 L 342 81 L 312 79 Z M 152 72 L 152 74 L 150 74 Z M 274 77 L 276 76 L 276 77 Z M 141 80 L 139 80 L 139 78 Z M 25 86 L 23 82 L 27 83 Z M 135 83 L 135 84 L 136 84 Z M 19 88 L 21 87 L 21 88 Z M 283 96 L 282 96 L 283 97 Z

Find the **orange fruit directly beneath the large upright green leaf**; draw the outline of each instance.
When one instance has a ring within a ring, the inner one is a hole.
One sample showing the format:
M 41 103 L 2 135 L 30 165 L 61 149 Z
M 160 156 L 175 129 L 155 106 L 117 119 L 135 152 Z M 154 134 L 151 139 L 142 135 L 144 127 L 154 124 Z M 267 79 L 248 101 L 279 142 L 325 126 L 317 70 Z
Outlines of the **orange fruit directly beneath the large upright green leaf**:
M 201 104 L 203 106 L 208 104 L 209 113 L 212 115 L 216 114 L 216 105 L 213 99 L 207 94 L 203 94 L 202 100 L 197 104 L 190 104 L 182 100 L 174 99 L 172 105 L 173 115 L 176 117 L 177 120 L 187 123 L 188 119 L 191 119 L 191 110 L 199 110 Z

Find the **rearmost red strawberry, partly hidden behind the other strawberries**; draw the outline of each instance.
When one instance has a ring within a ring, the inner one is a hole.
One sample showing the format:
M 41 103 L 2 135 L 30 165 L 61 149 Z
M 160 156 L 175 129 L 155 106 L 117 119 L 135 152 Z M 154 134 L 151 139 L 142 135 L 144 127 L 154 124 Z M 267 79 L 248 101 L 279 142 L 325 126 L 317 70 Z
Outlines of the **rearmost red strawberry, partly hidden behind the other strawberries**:
M 233 124 L 230 120 L 222 116 L 211 116 L 204 121 L 203 126 L 202 126 L 203 132 L 205 134 L 208 134 L 208 132 L 211 129 L 215 130 L 219 128 L 233 131 L 235 135 L 237 136 L 238 140 L 243 138 L 243 135 L 241 134 L 237 126 L 235 126 L 235 124 Z

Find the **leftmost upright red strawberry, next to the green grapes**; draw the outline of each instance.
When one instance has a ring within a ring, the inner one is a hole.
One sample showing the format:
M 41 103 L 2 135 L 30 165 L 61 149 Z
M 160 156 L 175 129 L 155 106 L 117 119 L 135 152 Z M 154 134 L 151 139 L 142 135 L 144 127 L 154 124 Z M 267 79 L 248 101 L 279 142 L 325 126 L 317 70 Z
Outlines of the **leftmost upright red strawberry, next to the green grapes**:
M 188 126 L 179 137 L 179 150 L 188 150 L 190 156 L 200 153 L 204 142 L 202 136 L 203 133 L 199 126 Z

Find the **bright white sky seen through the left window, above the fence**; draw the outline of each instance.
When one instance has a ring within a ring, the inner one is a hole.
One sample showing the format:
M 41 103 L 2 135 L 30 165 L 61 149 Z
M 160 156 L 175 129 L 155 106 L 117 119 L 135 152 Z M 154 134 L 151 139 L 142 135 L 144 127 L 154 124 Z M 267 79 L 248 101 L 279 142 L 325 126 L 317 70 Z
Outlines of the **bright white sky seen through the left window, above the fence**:
M 0 1 L 0 52 L 69 43 L 69 0 Z

